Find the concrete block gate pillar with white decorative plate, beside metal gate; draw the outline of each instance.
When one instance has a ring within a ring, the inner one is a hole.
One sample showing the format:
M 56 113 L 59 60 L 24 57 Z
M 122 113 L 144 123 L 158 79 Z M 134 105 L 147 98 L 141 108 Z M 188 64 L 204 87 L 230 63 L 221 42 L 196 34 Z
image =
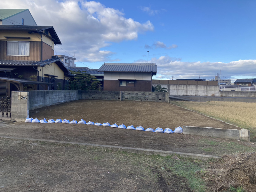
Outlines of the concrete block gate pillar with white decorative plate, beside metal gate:
M 28 117 L 28 92 L 12 91 L 12 119 L 25 120 Z

